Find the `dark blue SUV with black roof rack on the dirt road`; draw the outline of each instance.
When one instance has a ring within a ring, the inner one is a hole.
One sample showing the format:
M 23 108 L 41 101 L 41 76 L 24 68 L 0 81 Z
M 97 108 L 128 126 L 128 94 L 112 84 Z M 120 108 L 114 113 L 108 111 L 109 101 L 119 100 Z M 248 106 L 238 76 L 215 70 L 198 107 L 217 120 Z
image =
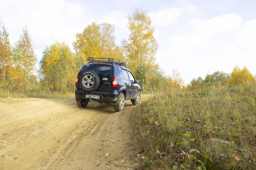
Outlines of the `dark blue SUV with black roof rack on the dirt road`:
M 75 80 L 75 100 L 78 107 L 89 101 L 110 102 L 116 112 L 122 111 L 125 100 L 139 104 L 141 88 L 126 63 L 113 58 L 90 57 Z

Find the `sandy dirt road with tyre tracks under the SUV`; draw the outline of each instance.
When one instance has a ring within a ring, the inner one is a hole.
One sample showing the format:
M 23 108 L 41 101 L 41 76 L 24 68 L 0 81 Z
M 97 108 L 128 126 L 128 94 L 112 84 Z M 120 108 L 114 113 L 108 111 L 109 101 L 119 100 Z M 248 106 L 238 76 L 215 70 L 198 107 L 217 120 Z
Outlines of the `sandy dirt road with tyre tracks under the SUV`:
M 149 99 L 141 95 L 141 101 Z M 0 169 L 137 168 L 129 112 L 75 99 L 0 98 Z

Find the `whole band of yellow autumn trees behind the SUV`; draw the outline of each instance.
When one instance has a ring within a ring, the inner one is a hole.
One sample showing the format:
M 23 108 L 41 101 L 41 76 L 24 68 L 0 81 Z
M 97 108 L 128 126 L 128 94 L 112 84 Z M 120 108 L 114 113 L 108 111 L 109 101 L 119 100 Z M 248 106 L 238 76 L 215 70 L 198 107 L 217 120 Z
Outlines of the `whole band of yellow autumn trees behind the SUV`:
M 178 69 L 167 75 L 156 62 L 158 44 L 149 13 L 135 9 L 127 18 L 130 35 L 121 42 L 121 46 L 115 42 L 115 25 L 93 22 L 75 35 L 73 50 L 65 41 L 56 40 L 45 47 L 39 61 L 27 26 L 19 40 L 11 45 L 8 30 L 0 21 L 1 93 L 73 92 L 75 77 L 88 57 L 115 58 L 128 63 L 135 78 L 142 80 L 145 92 L 159 90 L 159 87 L 187 90 L 255 82 L 255 76 L 246 67 L 234 66 L 231 74 L 215 71 L 205 78 L 193 78 L 185 85 Z

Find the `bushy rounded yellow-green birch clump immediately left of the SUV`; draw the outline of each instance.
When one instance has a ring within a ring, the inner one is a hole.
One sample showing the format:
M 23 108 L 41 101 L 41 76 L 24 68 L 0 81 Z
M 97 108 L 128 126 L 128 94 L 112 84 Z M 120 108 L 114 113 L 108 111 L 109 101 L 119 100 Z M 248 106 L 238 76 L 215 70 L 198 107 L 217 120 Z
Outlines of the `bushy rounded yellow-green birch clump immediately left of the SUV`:
M 40 60 L 40 79 L 43 90 L 74 90 L 75 56 L 65 42 L 55 42 L 46 47 Z

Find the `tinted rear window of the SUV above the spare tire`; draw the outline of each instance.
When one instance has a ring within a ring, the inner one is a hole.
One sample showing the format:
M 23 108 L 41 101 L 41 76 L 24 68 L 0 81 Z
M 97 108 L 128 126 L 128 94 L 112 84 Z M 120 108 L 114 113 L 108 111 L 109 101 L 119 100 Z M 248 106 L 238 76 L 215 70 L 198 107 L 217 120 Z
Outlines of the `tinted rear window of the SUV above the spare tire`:
M 86 70 L 94 71 L 99 75 L 99 78 L 111 78 L 111 66 L 109 65 L 99 65 L 99 64 L 90 64 L 86 65 Z

